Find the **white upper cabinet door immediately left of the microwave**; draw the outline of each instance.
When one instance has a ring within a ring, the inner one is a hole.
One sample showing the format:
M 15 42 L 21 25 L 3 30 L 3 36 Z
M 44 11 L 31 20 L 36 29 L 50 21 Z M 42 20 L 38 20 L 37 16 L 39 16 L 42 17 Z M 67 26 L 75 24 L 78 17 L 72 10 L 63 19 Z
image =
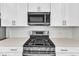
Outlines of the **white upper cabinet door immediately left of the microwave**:
M 27 4 L 18 3 L 17 4 L 17 26 L 27 26 Z

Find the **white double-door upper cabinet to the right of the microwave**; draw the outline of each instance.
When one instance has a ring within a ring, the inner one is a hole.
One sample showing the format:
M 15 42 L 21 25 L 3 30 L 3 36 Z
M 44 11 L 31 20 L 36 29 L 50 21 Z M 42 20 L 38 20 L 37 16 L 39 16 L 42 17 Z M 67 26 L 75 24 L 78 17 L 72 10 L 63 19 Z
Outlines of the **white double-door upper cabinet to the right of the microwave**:
M 79 26 L 79 3 L 52 3 L 51 26 Z

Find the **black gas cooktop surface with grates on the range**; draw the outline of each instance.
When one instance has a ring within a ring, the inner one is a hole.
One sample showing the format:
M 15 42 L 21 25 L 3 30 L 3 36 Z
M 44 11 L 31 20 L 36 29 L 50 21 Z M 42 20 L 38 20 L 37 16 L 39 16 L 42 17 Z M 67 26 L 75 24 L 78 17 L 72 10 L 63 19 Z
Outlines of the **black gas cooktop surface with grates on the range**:
M 31 36 L 24 44 L 24 47 L 55 47 L 48 36 Z

